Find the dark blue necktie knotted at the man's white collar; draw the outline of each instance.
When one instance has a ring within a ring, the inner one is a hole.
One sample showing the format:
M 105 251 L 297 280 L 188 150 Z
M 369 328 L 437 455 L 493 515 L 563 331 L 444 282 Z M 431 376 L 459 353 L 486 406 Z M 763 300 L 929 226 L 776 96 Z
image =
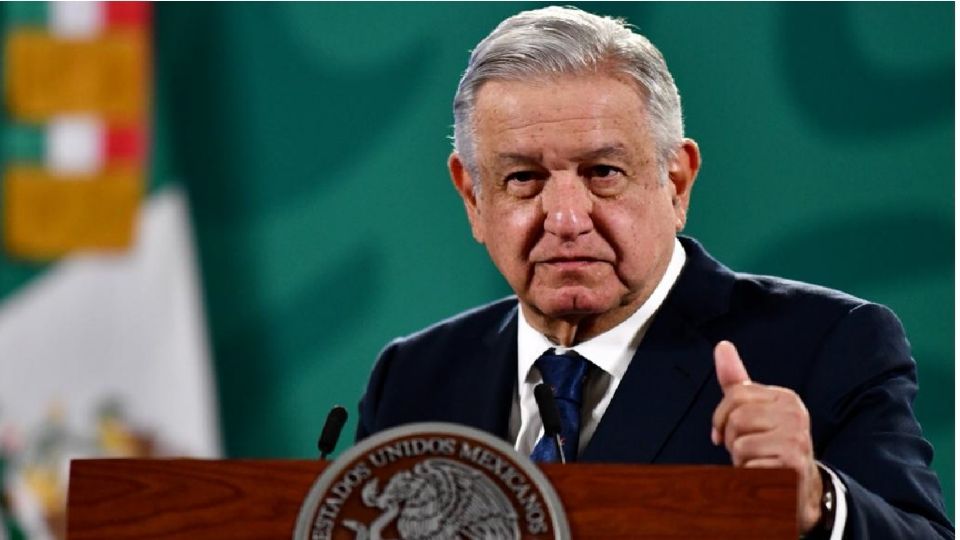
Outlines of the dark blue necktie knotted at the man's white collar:
M 580 403 L 583 399 L 583 381 L 587 378 L 590 362 L 575 351 L 556 354 L 554 349 L 537 359 L 534 364 L 550 385 L 560 410 L 560 444 L 567 461 L 577 460 L 580 443 Z M 538 463 L 559 463 L 560 453 L 553 437 L 541 437 L 533 447 L 530 459 Z

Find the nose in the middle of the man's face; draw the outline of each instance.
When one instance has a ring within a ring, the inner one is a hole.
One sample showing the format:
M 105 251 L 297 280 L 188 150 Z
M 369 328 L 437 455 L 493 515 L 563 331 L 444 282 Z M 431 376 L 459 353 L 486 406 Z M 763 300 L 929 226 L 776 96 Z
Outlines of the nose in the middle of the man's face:
M 593 199 L 579 176 L 551 176 L 541 200 L 548 233 L 569 240 L 593 230 Z

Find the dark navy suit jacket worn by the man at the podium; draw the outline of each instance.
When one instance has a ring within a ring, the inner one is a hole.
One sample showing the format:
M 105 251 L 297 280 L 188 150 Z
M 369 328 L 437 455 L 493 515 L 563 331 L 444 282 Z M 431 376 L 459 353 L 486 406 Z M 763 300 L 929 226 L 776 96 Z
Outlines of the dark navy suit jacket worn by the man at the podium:
M 695 241 L 681 243 L 687 262 L 579 460 L 730 464 L 710 442 L 722 397 L 713 347 L 727 339 L 751 379 L 803 399 L 815 456 L 848 490 L 845 538 L 953 538 L 896 316 L 837 291 L 734 273 Z M 441 421 L 513 444 L 516 379 L 517 300 L 508 298 L 388 345 L 360 402 L 357 438 Z

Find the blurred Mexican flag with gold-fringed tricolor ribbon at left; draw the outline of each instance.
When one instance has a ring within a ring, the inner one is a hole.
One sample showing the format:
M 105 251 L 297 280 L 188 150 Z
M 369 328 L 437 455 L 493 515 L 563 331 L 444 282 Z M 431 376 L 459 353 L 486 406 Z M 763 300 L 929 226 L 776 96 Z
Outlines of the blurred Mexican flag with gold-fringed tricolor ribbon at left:
M 0 10 L 0 538 L 57 538 L 69 459 L 219 455 L 213 374 L 150 4 Z

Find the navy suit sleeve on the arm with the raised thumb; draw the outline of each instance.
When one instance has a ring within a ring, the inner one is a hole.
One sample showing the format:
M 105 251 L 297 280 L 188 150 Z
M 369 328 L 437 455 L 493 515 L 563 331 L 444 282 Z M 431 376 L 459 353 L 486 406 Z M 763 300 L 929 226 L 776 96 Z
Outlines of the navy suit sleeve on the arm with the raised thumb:
M 825 340 L 810 381 L 820 401 L 811 403 L 815 452 L 846 486 L 843 537 L 953 538 L 896 316 L 875 304 L 852 309 Z

